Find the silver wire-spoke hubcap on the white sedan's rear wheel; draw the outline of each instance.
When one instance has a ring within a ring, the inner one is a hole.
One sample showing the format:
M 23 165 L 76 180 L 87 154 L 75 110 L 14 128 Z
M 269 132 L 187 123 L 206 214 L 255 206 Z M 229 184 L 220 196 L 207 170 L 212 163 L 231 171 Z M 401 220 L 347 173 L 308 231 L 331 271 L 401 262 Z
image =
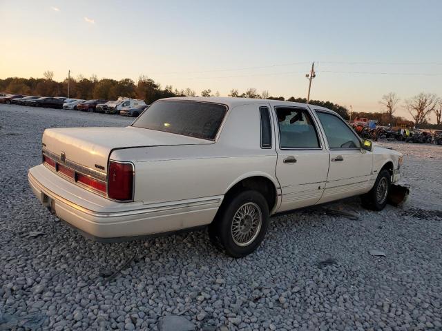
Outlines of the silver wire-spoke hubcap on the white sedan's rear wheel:
M 244 203 L 233 216 L 231 234 L 233 242 L 238 246 L 247 246 L 260 233 L 262 212 L 256 203 Z

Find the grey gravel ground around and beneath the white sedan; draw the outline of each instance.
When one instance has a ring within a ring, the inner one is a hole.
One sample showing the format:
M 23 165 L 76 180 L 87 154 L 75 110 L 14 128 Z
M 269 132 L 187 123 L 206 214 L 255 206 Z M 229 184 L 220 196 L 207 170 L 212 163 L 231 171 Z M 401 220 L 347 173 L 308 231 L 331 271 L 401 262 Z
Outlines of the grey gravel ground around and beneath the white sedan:
M 231 259 L 205 231 L 94 243 L 32 195 L 44 128 L 130 122 L 0 105 L 0 330 L 160 330 L 166 315 L 195 330 L 442 329 L 442 146 L 380 143 L 405 154 L 413 193 L 402 209 L 369 212 L 354 198 L 336 206 L 357 219 L 320 208 L 273 217 L 261 247 Z

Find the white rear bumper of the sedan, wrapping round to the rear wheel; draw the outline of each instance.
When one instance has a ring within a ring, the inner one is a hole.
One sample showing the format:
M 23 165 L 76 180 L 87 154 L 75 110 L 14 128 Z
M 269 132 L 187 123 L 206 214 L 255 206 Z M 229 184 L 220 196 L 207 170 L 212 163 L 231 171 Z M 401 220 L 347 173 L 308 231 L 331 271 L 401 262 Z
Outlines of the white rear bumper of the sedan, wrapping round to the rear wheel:
M 169 203 L 118 203 L 70 183 L 44 165 L 28 172 L 32 192 L 49 210 L 85 237 L 124 241 L 211 223 L 222 197 Z

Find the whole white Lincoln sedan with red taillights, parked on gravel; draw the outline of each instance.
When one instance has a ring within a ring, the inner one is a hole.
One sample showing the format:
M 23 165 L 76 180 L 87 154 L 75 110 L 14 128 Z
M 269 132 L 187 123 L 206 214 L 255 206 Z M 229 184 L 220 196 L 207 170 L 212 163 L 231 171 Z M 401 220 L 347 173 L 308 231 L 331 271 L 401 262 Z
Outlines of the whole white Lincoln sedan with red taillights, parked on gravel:
M 156 101 L 126 128 L 44 131 L 33 192 L 86 237 L 122 241 L 209 225 L 232 257 L 269 216 L 361 195 L 382 210 L 400 153 L 358 138 L 332 110 L 285 101 Z

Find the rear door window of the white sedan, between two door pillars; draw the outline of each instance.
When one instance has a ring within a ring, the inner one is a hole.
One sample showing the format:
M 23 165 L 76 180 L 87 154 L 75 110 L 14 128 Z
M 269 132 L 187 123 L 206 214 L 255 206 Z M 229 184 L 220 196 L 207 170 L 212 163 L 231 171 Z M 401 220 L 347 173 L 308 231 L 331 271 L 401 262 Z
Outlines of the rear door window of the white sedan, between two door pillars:
M 282 149 L 320 149 L 318 132 L 305 108 L 276 108 Z

